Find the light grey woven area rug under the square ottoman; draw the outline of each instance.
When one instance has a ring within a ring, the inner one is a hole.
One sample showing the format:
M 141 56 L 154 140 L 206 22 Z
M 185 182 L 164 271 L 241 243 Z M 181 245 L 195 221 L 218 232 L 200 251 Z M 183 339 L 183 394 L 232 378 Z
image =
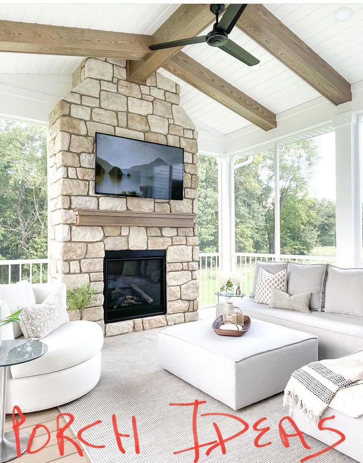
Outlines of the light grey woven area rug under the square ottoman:
M 157 332 L 130 333 L 105 339 L 103 348 L 103 368 L 99 384 L 88 394 L 60 407 L 62 412 L 75 416 L 73 430 L 102 420 L 102 424 L 88 429 L 83 437 L 94 444 L 104 444 L 103 449 L 87 447 L 86 453 L 93 463 L 192 463 L 194 451 L 174 455 L 174 452 L 192 448 L 192 407 L 170 406 L 170 403 L 192 403 L 196 399 L 207 403 L 199 408 L 197 430 L 200 443 L 216 440 L 213 422 L 218 424 L 225 438 L 239 432 L 243 425 L 227 417 L 200 417 L 203 413 L 225 413 L 242 418 L 249 429 L 239 437 L 225 444 L 226 453 L 220 447 L 206 456 L 203 447 L 199 462 L 276 462 L 298 463 L 307 455 L 315 454 L 326 446 L 306 436 L 311 450 L 302 447 L 298 437 L 290 439 L 290 448 L 281 443 L 278 424 L 288 414 L 282 407 L 282 394 L 275 395 L 238 412 L 221 404 L 200 390 L 190 386 L 169 372 L 162 370 L 157 360 Z M 192 361 L 192 359 L 190 359 Z M 216 372 L 218 374 L 218 372 Z M 72 387 L 72 385 L 70 385 Z M 258 387 L 255 385 L 254 387 Z M 131 434 L 122 438 L 125 454 L 119 451 L 112 428 L 111 417 L 116 415 L 121 433 Z M 140 454 L 135 453 L 132 416 L 136 417 Z M 257 433 L 253 424 L 267 417 L 260 427 L 270 426 L 271 430 L 261 438 L 261 443 L 272 442 L 262 448 L 254 447 Z M 293 432 L 288 424 L 287 432 Z M 353 463 L 336 450 L 308 460 L 319 463 Z

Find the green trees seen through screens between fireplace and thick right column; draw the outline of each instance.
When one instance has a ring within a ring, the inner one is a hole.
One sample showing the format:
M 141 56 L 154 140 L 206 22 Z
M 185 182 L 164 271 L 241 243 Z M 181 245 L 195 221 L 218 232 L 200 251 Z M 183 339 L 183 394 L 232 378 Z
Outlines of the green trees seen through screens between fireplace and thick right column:
M 283 254 L 311 254 L 335 245 L 335 203 L 310 196 L 319 160 L 316 139 L 280 149 L 280 245 Z M 275 192 L 272 151 L 255 154 L 235 170 L 236 252 L 274 253 Z M 213 157 L 199 156 L 198 223 L 201 252 L 218 250 L 218 174 Z

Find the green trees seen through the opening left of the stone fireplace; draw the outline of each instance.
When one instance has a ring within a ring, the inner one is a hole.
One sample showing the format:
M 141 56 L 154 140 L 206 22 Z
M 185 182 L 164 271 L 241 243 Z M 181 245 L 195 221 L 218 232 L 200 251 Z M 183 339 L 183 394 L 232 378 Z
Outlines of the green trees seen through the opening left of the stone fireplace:
M 0 258 L 47 255 L 46 128 L 0 120 Z

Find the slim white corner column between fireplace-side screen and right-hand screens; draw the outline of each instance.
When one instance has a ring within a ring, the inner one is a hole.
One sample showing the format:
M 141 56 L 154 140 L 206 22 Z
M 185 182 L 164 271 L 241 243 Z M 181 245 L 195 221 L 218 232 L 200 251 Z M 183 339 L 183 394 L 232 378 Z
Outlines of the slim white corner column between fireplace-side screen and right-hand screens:
M 232 271 L 234 268 L 234 170 L 233 156 L 220 158 L 219 164 L 219 253 L 220 270 Z

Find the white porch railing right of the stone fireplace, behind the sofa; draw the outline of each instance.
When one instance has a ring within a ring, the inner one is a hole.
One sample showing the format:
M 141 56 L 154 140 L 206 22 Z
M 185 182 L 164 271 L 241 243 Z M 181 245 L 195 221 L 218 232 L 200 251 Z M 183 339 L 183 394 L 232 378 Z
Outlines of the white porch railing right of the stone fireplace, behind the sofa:
M 299 256 L 282 254 L 258 254 L 238 252 L 234 255 L 234 272 L 241 275 L 241 291 L 249 296 L 254 283 L 254 268 L 256 261 L 292 261 L 300 264 L 334 264 L 336 257 L 333 256 Z M 209 307 L 217 302 L 215 292 L 219 289 L 219 254 L 200 253 L 199 255 L 199 306 Z

